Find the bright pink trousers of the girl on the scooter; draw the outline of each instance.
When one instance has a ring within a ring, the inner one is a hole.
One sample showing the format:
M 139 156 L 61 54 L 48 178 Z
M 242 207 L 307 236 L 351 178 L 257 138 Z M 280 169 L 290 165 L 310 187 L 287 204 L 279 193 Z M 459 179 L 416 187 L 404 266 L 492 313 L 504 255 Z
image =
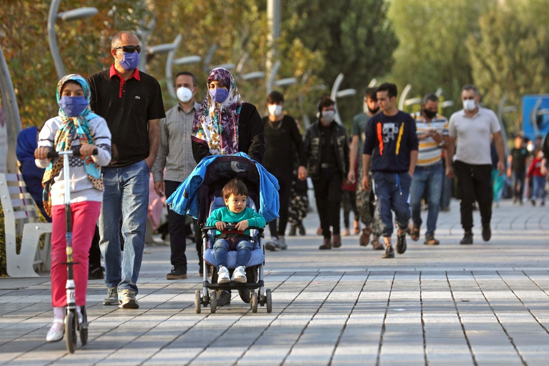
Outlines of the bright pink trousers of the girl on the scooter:
M 89 247 L 92 245 L 101 202 L 83 201 L 70 205 L 72 221 L 72 266 L 76 305 L 86 305 L 88 288 Z M 52 305 L 67 305 L 67 261 L 65 239 L 65 206 L 52 207 Z

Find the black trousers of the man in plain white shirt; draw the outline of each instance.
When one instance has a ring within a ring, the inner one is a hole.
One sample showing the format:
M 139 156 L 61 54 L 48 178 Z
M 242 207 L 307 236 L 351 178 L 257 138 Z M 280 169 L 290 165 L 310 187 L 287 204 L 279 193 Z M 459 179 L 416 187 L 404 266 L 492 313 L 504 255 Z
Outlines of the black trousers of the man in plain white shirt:
M 472 165 L 456 160 L 454 170 L 457 176 L 457 189 L 461 198 L 461 226 L 469 231 L 473 228 L 473 204 L 479 203 L 481 222 L 489 225 L 492 218 L 491 185 L 492 166 Z

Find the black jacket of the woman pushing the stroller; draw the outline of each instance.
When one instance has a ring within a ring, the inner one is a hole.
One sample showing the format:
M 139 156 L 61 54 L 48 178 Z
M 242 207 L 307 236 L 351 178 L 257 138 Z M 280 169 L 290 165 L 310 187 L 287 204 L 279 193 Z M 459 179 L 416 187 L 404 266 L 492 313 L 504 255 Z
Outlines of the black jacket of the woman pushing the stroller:
M 238 151 L 248 154 L 251 159 L 261 162 L 265 156 L 265 126 L 255 105 L 243 103 L 238 117 Z M 193 157 L 197 164 L 206 156 L 211 156 L 210 149 L 204 144 L 192 141 Z

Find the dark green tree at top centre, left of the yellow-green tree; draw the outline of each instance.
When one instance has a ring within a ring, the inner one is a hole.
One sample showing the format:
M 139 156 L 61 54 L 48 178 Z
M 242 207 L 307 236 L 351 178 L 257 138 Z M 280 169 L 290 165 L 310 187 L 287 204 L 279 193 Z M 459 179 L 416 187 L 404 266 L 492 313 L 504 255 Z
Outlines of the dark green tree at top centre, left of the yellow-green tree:
M 386 18 L 386 1 L 379 0 L 293 0 L 282 2 L 282 32 L 299 38 L 305 47 L 320 51 L 324 68 L 318 72 L 329 94 L 340 72 L 341 88 L 355 88 L 357 95 L 338 101 L 341 119 L 350 124 L 362 111 L 366 87 L 373 77 L 381 77 L 393 66 L 397 40 Z

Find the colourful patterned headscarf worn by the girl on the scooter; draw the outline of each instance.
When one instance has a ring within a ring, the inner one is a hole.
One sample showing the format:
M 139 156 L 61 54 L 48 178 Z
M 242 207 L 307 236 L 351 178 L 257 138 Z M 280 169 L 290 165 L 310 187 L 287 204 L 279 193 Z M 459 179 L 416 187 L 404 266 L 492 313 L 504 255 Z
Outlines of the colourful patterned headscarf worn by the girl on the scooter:
M 86 82 L 86 79 L 78 74 L 67 75 L 59 80 L 59 83 L 57 84 L 57 103 L 59 103 L 63 85 L 65 85 L 65 82 L 69 80 L 80 84 L 82 90 L 84 91 L 84 97 L 86 97 L 89 103 L 89 98 L 91 97 L 89 85 Z M 75 134 L 77 134 L 80 140 L 80 145 L 93 144 L 93 137 L 89 132 L 88 121 L 99 116 L 92 113 L 89 105 L 76 117 L 67 116 L 63 108 L 59 108 L 59 116 L 63 119 L 63 123 L 55 134 L 55 140 L 53 143 L 55 151 L 71 150 L 72 137 L 75 136 Z M 52 189 L 53 179 L 57 177 L 63 168 L 63 159 L 64 156 L 59 156 L 52 159 L 49 166 L 46 168 L 46 172 L 44 172 L 44 177 L 42 178 L 42 187 L 44 187 L 44 210 L 46 210 L 46 213 L 49 216 L 52 216 L 52 195 L 50 191 Z M 84 160 L 84 168 L 86 169 L 88 178 L 92 182 L 93 188 L 102 191 L 103 182 L 99 176 L 99 166 L 95 164 L 90 156 L 86 157 Z

